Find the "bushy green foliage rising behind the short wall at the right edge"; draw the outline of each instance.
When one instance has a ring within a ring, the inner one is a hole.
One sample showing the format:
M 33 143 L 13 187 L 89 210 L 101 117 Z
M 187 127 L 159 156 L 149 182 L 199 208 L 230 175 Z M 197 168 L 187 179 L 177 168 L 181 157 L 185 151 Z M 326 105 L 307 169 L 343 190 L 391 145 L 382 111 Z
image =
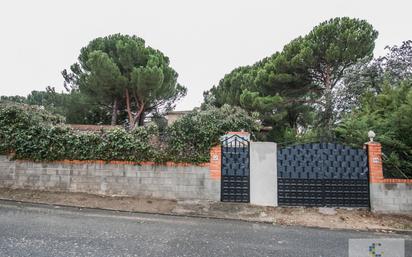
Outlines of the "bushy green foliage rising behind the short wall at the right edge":
M 348 144 L 361 146 L 373 130 L 385 154 L 385 175 L 403 177 L 403 172 L 412 177 L 412 80 L 385 81 L 380 92 L 367 93 L 362 106 L 343 119 L 336 134 Z

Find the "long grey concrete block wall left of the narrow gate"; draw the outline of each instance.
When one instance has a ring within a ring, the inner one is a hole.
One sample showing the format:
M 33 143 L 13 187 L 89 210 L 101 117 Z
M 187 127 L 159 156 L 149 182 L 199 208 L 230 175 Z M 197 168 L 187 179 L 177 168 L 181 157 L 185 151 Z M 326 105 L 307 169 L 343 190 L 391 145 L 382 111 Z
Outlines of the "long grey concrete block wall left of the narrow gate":
M 142 165 L 102 161 L 10 161 L 0 156 L 0 188 L 83 192 L 162 199 L 220 199 L 209 164 Z

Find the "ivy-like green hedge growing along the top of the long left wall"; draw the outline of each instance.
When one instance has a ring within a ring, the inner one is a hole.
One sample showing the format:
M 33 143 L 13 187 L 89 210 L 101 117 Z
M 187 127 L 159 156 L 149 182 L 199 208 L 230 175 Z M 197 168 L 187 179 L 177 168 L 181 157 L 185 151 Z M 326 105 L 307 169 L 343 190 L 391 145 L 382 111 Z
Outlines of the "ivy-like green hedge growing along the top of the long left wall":
M 227 131 L 255 131 L 255 119 L 238 107 L 195 110 L 159 134 L 156 126 L 76 132 L 60 116 L 37 107 L 0 103 L 0 153 L 16 159 L 207 162 Z

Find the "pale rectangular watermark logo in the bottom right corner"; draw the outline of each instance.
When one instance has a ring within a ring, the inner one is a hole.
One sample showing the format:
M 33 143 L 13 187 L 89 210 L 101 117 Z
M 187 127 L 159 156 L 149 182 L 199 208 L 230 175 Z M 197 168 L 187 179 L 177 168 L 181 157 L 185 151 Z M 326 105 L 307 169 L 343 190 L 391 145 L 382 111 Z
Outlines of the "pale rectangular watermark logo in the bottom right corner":
M 349 257 L 405 257 L 405 240 L 349 239 Z

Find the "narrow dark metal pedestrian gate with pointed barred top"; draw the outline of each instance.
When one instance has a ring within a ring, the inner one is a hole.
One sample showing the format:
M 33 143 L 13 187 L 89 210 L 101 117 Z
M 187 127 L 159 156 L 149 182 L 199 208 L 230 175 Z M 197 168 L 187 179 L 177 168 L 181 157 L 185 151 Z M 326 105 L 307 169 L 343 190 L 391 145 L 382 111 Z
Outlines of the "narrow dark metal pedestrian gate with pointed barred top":
M 222 141 L 222 202 L 250 201 L 249 141 L 239 135 Z

